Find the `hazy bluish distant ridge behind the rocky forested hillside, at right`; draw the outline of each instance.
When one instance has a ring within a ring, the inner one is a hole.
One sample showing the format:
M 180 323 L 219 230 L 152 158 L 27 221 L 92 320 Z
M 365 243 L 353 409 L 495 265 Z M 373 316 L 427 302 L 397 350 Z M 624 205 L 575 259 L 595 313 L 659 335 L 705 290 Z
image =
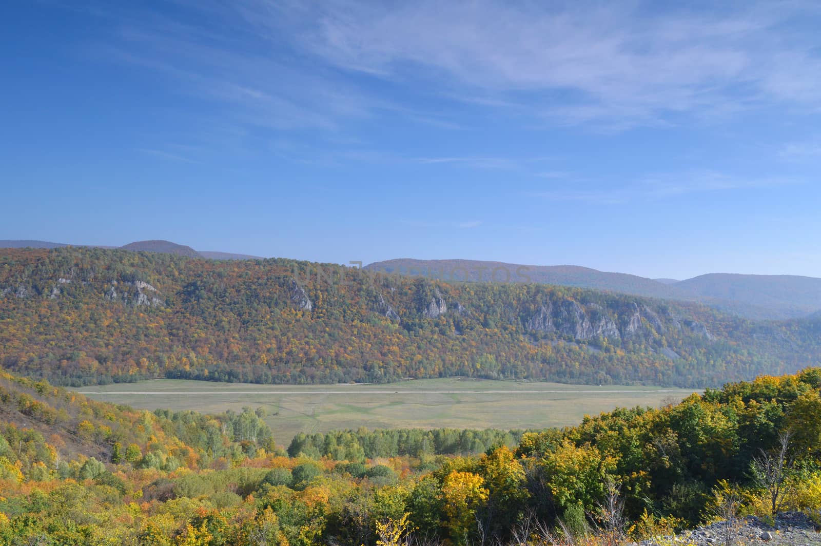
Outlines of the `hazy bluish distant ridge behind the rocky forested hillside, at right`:
M 796 319 L 821 310 L 821 279 L 714 273 L 686 281 L 608 273 L 576 265 L 525 265 L 471 259 L 389 259 L 365 266 L 453 282 L 539 282 L 665 300 L 699 301 L 747 319 Z

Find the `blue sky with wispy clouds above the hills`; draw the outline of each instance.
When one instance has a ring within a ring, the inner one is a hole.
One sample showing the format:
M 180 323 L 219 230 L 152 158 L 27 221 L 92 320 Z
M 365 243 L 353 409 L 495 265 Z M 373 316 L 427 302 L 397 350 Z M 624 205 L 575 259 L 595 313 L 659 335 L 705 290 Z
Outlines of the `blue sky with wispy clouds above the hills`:
M 821 5 L 673 3 L 11 0 L 0 239 L 821 277 Z

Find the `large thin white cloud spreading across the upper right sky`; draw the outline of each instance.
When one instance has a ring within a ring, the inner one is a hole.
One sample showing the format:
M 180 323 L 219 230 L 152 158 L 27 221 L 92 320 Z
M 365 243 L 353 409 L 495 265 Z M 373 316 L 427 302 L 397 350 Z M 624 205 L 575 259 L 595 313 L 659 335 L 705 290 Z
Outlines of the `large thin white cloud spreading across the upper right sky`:
M 256 15 L 269 0 L 245 0 Z M 527 104 L 568 122 L 658 122 L 764 101 L 821 107 L 821 58 L 805 2 L 713 4 L 703 11 L 585 2 L 323 2 L 297 37 L 346 71 L 424 80 L 476 103 Z M 263 15 L 264 16 L 264 15 Z

